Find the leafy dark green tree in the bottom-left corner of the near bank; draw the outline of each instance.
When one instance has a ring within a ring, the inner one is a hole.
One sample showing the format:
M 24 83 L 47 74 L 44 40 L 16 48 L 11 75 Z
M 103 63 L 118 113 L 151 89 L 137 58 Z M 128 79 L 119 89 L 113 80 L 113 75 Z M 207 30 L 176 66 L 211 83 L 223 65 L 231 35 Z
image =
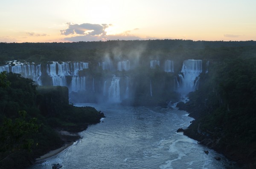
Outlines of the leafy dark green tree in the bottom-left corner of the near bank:
M 36 118 L 27 121 L 26 111 L 19 111 L 19 118 L 4 118 L 0 126 L 0 166 L 7 159 L 21 152 L 31 152 L 34 143 L 30 135 L 38 132 L 40 125 Z

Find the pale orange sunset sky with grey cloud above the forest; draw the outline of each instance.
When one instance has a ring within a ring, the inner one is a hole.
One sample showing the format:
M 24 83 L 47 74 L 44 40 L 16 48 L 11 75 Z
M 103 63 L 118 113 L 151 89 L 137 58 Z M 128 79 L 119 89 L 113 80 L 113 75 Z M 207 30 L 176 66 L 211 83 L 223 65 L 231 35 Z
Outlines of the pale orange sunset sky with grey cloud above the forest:
M 256 0 L 0 0 L 0 42 L 256 40 Z

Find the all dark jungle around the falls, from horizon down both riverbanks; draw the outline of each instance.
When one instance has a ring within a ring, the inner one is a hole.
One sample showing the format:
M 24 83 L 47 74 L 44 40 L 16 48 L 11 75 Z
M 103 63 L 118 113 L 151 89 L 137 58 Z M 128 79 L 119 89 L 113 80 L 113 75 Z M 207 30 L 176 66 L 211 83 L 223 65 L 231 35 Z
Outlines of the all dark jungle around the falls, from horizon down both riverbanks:
M 122 101 L 133 106 L 165 107 L 170 101 L 177 102 L 180 94 L 166 89 L 173 88 L 169 79 L 177 76 L 183 61 L 201 59 L 204 64 L 209 61 L 207 73 L 204 70 L 199 76 L 198 89 L 188 94 L 189 101 L 177 104 L 180 110 L 188 111 L 195 118 L 184 134 L 244 168 L 256 168 L 256 41 L 0 43 L 0 65 L 10 60 L 40 64 L 88 62 L 89 69 L 79 74 L 89 74 L 89 79 L 112 76 L 113 72 L 103 72 L 98 66 L 106 56 L 114 62 L 129 59 L 137 63 L 138 67 L 128 72 L 115 72 L 119 76 L 133 75 L 140 84 L 132 84 L 136 88 L 132 101 Z M 174 73 L 145 66 L 145 62 L 154 59 L 173 60 Z M 154 98 L 145 95 L 147 78 L 152 79 Z M 163 86 L 158 86 L 159 81 Z M 46 85 L 49 84 L 37 86 L 20 74 L 0 74 L 0 168 L 26 167 L 38 156 L 63 144 L 56 129 L 77 132 L 77 127 L 86 129 L 88 124 L 97 123 L 104 116 L 92 107 L 78 108 L 70 104 L 67 87 Z M 84 101 L 89 102 L 97 97 L 93 93 L 86 96 Z M 76 94 L 72 102 L 76 102 Z

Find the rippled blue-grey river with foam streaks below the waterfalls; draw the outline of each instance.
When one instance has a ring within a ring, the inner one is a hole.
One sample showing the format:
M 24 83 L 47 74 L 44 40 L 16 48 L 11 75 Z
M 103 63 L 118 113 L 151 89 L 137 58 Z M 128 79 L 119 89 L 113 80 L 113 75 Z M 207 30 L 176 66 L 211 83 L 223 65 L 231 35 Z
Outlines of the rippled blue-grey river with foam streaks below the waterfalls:
M 80 132 L 83 137 L 30 169 L 233 169 L 234 163 L 177 133 L 193 119 L 176 108 L 77 104 L 101 110 L 106 118 Z M 208 150 L 209 154 L 205 154 Z M 214 157 L 220 157 L 217 161 Z

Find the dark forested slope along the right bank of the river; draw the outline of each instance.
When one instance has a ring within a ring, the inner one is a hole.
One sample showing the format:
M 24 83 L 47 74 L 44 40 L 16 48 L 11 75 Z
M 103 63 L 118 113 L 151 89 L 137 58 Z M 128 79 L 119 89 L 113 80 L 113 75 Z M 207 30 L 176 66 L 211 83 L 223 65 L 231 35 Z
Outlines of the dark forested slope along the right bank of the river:
M 224 59 L 202 74 L 182 106 L 196 120 L 184 133 L 239 163 L 256 166 L 256 58 Z M 252 164 L 253 163 L 253 164 Z M 248 167 L 248 166 L 247 166 Z

